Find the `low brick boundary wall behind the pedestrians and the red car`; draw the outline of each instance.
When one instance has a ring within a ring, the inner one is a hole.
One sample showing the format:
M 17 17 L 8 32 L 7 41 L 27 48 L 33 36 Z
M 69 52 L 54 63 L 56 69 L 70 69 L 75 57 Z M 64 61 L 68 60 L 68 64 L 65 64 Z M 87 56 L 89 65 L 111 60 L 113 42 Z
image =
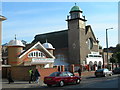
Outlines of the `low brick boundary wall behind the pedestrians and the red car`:
M 33 69 L 35 71 L 36 66 L 14 66 L 11 68 L 11 74 L 13 80 L 29 80 L 29 70 Z M 7 70 L 8 71 L 8 70 Z M 58 71 L 57 68 L 38 68 L 38 71 L 41 75 L 41 80 L 44 79 L 45 76 L 49 76 L 51 73 Z

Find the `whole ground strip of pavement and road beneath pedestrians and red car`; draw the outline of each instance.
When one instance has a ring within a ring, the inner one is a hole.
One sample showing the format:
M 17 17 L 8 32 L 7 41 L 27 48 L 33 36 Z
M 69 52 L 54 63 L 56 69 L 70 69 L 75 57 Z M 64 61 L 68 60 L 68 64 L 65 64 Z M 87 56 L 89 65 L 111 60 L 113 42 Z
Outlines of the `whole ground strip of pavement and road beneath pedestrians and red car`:
M 2 82 L 2 88 L 118 88 L 120 83 L 120 77 L 118 75 L 108 76 L 108 77 L 83 77 L 80 84 L 69 84 L 63 87 L 53 86 L 47 87 L 45 84 L 40 82 L 40 84 L 29 84 L 27 81 L 24 82 L 15 82 L 8 84 L 8 82 Z

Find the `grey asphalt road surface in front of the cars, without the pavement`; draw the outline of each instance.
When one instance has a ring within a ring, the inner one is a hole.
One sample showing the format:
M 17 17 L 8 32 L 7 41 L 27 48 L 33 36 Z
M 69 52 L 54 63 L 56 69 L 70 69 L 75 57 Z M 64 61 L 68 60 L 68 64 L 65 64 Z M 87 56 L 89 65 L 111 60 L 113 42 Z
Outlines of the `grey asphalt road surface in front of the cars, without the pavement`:
M 98 77 L 95 76 L 83 78 L 81 83 L 76 84 L 70 84 L 65 85 L 64 87 L 59 88 L 118 88 L 118 84 L 120 83 L 119 80 L 120 77 L 118 75 L 113 75 L 109 77 Z M 47 86 L 44 86 L 43 88 L 49 88 Z M 52 87 L 57 88 L 57 87 Z

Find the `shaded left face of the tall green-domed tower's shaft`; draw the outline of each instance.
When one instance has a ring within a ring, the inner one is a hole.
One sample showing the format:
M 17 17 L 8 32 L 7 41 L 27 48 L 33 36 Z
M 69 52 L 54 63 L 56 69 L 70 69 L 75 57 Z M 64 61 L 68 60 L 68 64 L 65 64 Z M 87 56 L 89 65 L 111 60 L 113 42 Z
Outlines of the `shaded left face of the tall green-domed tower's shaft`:
M 80 64 L 79 19 L 68 21 L 69 63 Z

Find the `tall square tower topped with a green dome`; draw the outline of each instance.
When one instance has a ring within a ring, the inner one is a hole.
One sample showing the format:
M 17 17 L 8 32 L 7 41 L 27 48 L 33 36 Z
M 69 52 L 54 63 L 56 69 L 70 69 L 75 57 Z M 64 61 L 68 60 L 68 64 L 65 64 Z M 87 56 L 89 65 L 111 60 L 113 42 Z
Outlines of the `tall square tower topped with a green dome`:
M 80 48 L 81 43 L 84 43 L 85 35 L 85 16 L 82 15 L 82 10 L 73 6 L 70 10 L 70 16 L 67 16 L 68 22 L 68 48 L 69 48 L 69 63 L 82 64 Z M 82 42 L 81 42 L 82 41 Z

